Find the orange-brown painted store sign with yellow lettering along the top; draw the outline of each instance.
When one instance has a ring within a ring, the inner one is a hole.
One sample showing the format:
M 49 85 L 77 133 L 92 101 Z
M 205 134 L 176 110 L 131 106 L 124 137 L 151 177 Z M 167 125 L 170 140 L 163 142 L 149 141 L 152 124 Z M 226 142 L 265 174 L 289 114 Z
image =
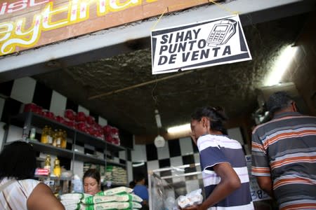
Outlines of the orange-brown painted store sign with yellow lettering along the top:
M 0 2 L 0 56 L 209 3 L 207 0 Z

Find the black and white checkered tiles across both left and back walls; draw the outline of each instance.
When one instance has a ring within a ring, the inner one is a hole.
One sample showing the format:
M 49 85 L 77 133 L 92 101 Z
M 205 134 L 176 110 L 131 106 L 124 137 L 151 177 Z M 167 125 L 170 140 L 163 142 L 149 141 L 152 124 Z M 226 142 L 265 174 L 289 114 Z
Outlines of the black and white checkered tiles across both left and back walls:
M 74 103 L 71 99 L 62 94 L 51 90 L 41 83 L 37 83 L 33 78 L 20 78 L 11 80 L 6 83 L 0 83 L 0 126 L 8 122 L 10 115 L 20 113 L 21 105 L 35 103 L 42 106 L 44 109 L 52 111 L 56 116 L 63 116 L 65 109 L 72 109 L 75 112 L 83 111 L 87 115 L 94 116 L 96 121 L 100 125 L 107 125 L 107 120 L 98 116 L 96 113 L 92 113 L 88 109 Z M 119 128 L 122 130 L 121 128 Z M 239 140 L 243 144 L 242 132 L 237 129 L 228 130 L 230 137 Z M 3 142 L 4 129 L 0 127 L 0 146 Z M 18 127 L 11 127 L 8 141 L 20 139 L 22 136 L 22 129 Z M 199 152 L 197 146 L 192 143 L 190 137 L 182 139 L 173 139 L 167 141 L 167 144 L 163 148 L 156 148 L 154 144 L 147 145 L 135 145 L 130 146 L 133 142 L 133 134 L 124 135 L 128 139 L 121 139 L 121 146 L 131 148 L 119 152 L 114 155 L 113 160 L 127 165 L 128 180 L 133 180 L 133 175 L 138 172 L 147 174 L 148 171 L 154 169 L 161 169 L 164 167 L 176 167 L 180 165 L 192 164 L 199 162 Z M 124 141 L 126 140 L 126 141 Z M 124 145 L 124 143 L 128 145 Z M 69 145 L 68 147 L 70 147 Z M 79 151 L 88 152 L 93 151 L 91 146 L 86 144 L 77 144 L 75 146 Z M 102 151 L 97 151 L 98 153 Z M 127 157 L 126 157 L 127 155 Z M 82 175 L 83 163 L 75 161 L 75 172 Z M 69 166 L 70 167 L 70 166 Z M 170 176 L 171 172 L 162 172 L 161 176 Z

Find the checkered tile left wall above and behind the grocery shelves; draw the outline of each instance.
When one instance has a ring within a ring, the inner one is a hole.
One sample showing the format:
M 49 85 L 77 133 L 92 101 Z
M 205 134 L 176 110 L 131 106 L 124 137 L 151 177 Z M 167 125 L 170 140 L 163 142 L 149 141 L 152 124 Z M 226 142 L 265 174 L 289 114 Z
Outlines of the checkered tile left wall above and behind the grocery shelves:
M 83 111 L 86 115 L 90 115 L 96 118 L 96 122 L 100 125 L 107 125 L 107 120 L 98 116 L 96 113 L 92 113 L 88 109 L 80 106 L 72 100 L 67 99 L 67 97 L 51 90 L 41 83 L 37 83 L 33 78 L 19 78 L 16 80 L 11 80 L 6 83 L 0 83 L 0 148 L 4 141 L 4 127 L 5 123 L 8 122 L 9 116 L 14 116 L 21 112 L 22 104 L 34 103 L 39 106 L 42 106 L 43 109 L 47 109 L 55 114 L 55 116 L 63 116 L 65 109 L 72 109 L 73 111 Z M 40 134 L 37 134 L 40 137 Z M 15 141 L 21 139 L 22 137 L 22 128 L 11 126 L 8 132 L 8 141 Z M 37 139 L 39 139 L 37 137 Z M 129 139 L 128 139 L 129 140 Z M 133 136 L 130 134 L 130 140 L 133 141 Z M 72 144 L 68 142 L 67 148 L 72 148 Z M 83 151 L 84 153 L 93 153 L 95 148 L 87 144 L 77 144 L 75 148 Z M 97 151 L 100 153 L 100 151 Z M 101 151 L 103 152 L 103 151 Z M 131 151 L 129 151 L 129 154 Z M 40 157 L 45 157 L 46 154 L 40 154 Z M 125 157 L 125 153 L 120 152 L 114 154 L 114 161 L 120 163 L 127 162 L 127 169 L 129 177 L 132 179 L 132 168 L 131 168 L 131 155 Z M 55 157 L 52 157 L 55 158 Z M 70 169 L 70 160 L 63 160 L 60 158 L 60 162 L 65 165 L 67 169 Z M 74 172 L 79 176 L 82 176 L 83 172 L 83 163 L 74 162 Z

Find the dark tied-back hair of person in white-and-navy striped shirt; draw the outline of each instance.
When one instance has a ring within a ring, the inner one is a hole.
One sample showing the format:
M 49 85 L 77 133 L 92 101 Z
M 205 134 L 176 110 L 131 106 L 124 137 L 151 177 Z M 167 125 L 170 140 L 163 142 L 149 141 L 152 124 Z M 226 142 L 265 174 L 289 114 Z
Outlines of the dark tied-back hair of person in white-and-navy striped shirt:
M 209 118 L 211 124 L 211 130 L 217 130 L 222 132 L 222 134 L 227 135 L 228 132 L 224 127 L 224 122 L 227 120 L 225 116 L 223 108 L 220 106 L 211 107 L 211 106 L 204 106 L 200 107 L 192 113 L 191 118 L 192 120 L 200 121 L 202 117 Z

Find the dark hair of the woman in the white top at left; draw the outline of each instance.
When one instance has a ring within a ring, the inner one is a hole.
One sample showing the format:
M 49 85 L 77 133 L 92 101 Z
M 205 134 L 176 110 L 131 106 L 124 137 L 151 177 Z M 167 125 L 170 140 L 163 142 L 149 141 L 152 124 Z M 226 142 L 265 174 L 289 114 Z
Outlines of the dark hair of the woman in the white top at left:
M 0 153 L 0 180 L 5 177 L 17 180 L 34 179 L 37 156 L 33 147 L 25 141 L 13 141 Z

